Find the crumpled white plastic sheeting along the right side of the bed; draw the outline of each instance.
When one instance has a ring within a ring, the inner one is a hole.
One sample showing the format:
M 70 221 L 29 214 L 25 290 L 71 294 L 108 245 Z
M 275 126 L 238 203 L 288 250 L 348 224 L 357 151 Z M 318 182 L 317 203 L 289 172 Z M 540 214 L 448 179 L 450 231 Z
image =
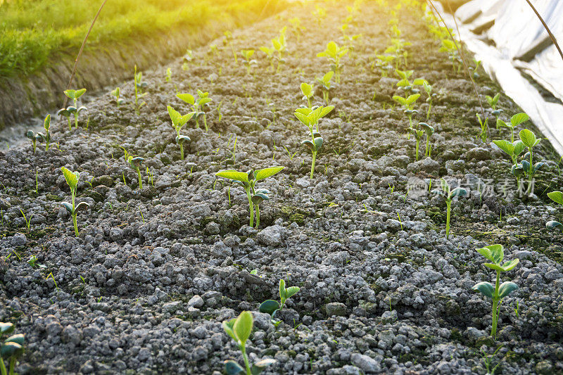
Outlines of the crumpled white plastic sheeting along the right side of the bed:
M 531 1 L 563 44 L 563 0 Z M 453 16 L 441 13 L 455 30 Z M 472 0 L 455 17 L 467 49 L 563 155 L 563 105 L 545 101 L 521 74 L 563 101 L 563 60 L 526 0 Z

